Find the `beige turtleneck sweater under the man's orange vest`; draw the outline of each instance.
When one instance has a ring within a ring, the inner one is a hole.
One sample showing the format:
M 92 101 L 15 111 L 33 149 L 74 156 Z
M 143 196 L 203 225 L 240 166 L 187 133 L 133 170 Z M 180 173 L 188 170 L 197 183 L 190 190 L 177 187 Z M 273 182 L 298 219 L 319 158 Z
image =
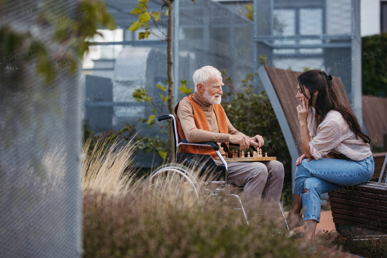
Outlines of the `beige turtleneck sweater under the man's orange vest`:
M 209 132 L 197 129 L 194 120 L 194 108 L 189 100 L 182 100 L 179 103 L 177 109 L 177 117 L 182 125 L 185 137 L 190 143 L 197 143 L 200 141 L 216 141 L 217 143 L 224 143 L 229 141 L 230 134 L 244 135 L 240 131 L 236 130 L 227 118 L 228 134 L 221 134 L 219 132 L 219 126 L 214 111 L 214 107 L 211 104 L 202 100 L 197 93 L 194 93 L 192 98 L 202 107 L 205 117 L 207 118 Z

